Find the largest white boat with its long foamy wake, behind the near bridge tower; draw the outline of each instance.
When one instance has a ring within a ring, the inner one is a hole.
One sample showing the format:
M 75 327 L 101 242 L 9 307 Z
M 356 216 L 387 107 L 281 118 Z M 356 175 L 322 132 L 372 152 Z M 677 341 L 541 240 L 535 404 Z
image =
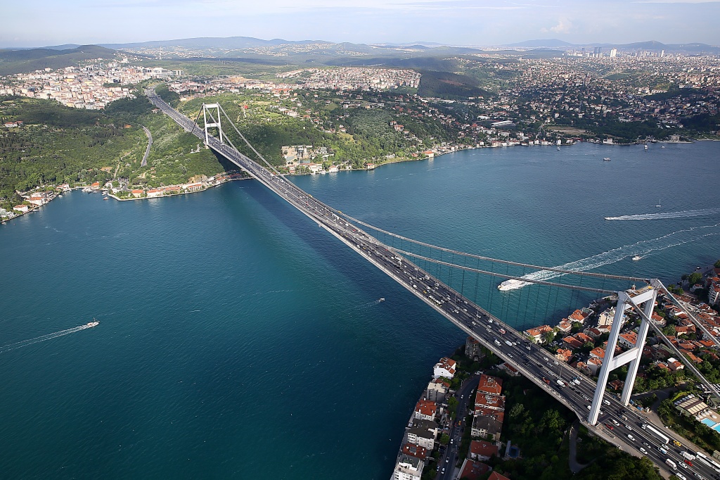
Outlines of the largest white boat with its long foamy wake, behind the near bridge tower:
M 608 250 L 608 252 L 603 252 L 601 254 L 594 255 L 593 257 L 576 260 L 575 262 L 566 263 L 564 265 L 558 265 L 554 268 L 585 272 L 586 270 L 592 270 L 593 268 L 603 267 L 603 265 L 620 262 L 628 257 L 642 258 L 651 252 L 660 252 L 665 249 L 670 249 L 673 246 L 680 246 L 688 244 L 692 241 L 704 239 L 708 236 L 718 235 L 720 235 L 720 223 L 685 228 L 683 230 L 674 231 L 671 234 L 659 236 L 656 239 L 641 240 L 634 244 L 619 246 L 616 249 Z M 562 275 L 566 274 L 551 272 L 549 270 L 540 270 L 539 272 L 523 275 L 522 278 L 527 280 L 547 281 L 553 278 L 561 277 Z M 532 285 L 532 283 L 523 282 L 523 280 L 505 280 L 505 282 L 500 283 L 498 290 L 516 290 L 517 288 L 523 288 L 526 285 Z

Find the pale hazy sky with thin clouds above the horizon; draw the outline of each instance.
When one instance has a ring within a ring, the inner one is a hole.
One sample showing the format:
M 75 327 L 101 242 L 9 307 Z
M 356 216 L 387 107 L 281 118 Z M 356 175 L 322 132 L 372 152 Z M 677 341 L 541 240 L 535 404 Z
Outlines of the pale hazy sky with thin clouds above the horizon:
M 354 43 L 430 41 L 720 45 L 720 1 L 5 0 L 0 48 L 188 37 Z

